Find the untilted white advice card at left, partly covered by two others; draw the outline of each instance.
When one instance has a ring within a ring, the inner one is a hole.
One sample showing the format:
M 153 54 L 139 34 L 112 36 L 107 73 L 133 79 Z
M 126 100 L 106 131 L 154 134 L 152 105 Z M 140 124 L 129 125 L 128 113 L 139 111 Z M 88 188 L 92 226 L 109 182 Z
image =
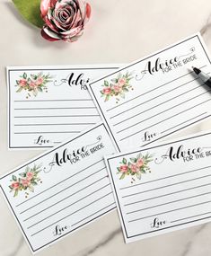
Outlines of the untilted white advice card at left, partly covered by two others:
M 7 68 L 10 149 L 57 146 L 101 121 L 87 84 L 115 65 Z

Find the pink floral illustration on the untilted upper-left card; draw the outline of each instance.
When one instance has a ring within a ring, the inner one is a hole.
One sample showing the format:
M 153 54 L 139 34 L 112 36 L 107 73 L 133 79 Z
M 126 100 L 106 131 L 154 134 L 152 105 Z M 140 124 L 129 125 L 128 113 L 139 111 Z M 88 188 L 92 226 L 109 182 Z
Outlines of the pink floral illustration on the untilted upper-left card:
M 31 94 L 36 97 L 38 93 L 48 93 L 47 84 L 52 82 L 52 78 L 53 76 L 49 74 L 43 75 L 42 72 L 38 75 L 27 75 L 24 72 L 23 75 L 20 75 L 20 79 L 16 80 L 15 86 L 18 87 L 16 93 L 27 92 L 27 99 L 31 97 Z

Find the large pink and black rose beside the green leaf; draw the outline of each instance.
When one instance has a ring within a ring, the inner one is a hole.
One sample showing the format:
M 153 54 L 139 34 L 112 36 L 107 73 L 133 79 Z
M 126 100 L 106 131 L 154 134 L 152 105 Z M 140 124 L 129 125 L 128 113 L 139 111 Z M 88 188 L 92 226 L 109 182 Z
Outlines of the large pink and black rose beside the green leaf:
M 77 40 L 91 15 L 91 6 L 84 0 L 41 0 L 41 17 L 45 23 L 41 35 L 50 41 Z

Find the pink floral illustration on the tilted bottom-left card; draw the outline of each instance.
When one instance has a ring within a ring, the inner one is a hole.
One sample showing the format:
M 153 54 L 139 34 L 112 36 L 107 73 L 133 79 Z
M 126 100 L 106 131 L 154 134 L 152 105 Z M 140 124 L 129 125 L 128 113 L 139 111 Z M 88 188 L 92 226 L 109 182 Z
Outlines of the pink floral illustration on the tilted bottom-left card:
M 42 183 L 39 173 L 41 171 L 41 164 L 34 165 L 33 168 L 26 167 L 25 172 L 19 173 L 19 176 L 13 175 L 10 191 L 13 192 L 13 197 L 17 197 L 20 191 L 25 192 L 25 198 L 28 198 L 29 192 L 34 192 L 34 186 Z

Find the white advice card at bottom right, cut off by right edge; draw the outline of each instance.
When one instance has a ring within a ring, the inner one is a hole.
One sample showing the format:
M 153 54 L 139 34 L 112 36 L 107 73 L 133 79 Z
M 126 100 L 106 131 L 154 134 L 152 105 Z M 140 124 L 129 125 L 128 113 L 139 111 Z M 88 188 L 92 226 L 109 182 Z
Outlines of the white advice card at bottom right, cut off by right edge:
M 107 157 L 126 243 L 210 221 L 211 132 Z

